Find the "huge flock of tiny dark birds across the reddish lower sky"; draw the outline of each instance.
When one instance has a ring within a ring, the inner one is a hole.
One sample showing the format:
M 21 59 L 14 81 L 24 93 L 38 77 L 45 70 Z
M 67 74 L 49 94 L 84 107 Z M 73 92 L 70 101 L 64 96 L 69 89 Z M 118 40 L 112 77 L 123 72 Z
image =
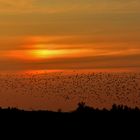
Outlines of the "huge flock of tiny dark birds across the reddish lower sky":
M 52 72 L 1 74 L 0 94 L 14 93 L 47 101 L 86 102 L 94 107 L 140 107 L 140 73 Z

